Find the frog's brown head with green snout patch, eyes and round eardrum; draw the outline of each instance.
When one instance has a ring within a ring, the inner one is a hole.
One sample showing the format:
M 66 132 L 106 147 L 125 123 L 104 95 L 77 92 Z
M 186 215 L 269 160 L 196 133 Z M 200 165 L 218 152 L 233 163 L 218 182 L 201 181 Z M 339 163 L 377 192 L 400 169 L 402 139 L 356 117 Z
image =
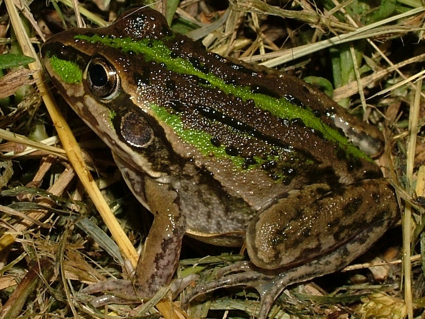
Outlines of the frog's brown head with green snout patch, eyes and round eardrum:
M 106 28 L 54 35 L 41 48 L 52 82 L 75 112 L 119 157 L 152 177 L 164 175 L 158 158 L 168 152 L 164 132 L 150 113 L 162 91 L 149 81 L 159 66 L 148 55 L 156 50 L 150 39 L 169 32 L 160 13 L 139 7 Z M 143 48 L 150 50 L 147 55 Z M 150 153 L 155 159 L 147 158 Z

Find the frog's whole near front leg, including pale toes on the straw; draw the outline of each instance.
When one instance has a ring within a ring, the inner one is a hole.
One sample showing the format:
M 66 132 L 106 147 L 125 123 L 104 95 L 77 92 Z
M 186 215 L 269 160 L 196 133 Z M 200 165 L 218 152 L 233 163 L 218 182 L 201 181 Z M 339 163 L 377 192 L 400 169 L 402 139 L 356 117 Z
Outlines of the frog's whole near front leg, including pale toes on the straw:
M 125 179 L 125 171 L 123 172 Z M 168 184 L 151 179 L 143 180 L 144 193 L 151 212 L 153 224 L 144 244 L 132 280 L 109 280 L 84 288 L 84 293 L 110 291 L 92 300 L 95 307 L 108 303 L 134 303 L 151 298 L 161 287 L 170 284 L 176 271 L 181 240 L 186 225 L 180 212 L 177 193 Z

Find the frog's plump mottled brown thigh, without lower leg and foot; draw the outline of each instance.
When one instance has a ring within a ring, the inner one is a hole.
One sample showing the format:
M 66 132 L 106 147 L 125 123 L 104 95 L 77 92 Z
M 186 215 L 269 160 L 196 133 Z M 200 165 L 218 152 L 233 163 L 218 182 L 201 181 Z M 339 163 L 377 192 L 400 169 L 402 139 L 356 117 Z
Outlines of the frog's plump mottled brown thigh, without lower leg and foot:
M 397 212 L 394 192 L 384 179 L 328 190 L 324 184 L 309 185 L 260 211 L 247 230 L 251 261 L 261 268 L 276 269 L 330 254 L 349 242 L 358 242 L 350 247 L 357 246 L 361 253 L 368 247 L 359 237 L 367 233 L 377 240 L 384 221 Z M 367 229 L 370 231 L 362 233 Z M 363 235 L 358 236 L 360 233 Z M 370 246 L 373 241 L 367 243 Z

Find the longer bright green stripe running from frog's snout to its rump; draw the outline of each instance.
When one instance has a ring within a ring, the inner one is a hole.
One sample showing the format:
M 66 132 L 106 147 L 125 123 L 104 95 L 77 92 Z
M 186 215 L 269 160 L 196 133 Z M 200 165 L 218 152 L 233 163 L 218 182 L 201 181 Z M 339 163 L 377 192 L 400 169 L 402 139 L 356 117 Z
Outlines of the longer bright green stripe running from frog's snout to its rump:
M 275 116 L 287 119 L 301 118 L 307 127 L 321 132 L 324 139 L 334 141 L 341 149 L 345 149 L 347 153 L 352 154 L 354 157 L 371 160 L 361 150 L 351 144 L 345 136 L 325 125 L 310 110 L 293 105 L 284 98 L 276 99 L 265 94 L 253 93 L 249 87 L 227 84 L 213 73 L 203 73 L 193 67 L 187 59 L 173 58 L 172 51 L 161 40 L 145 38 L 135 41 L 131 37 L 116 38 L 100 35 L 76 35 L 75 39 L 86 40 L 91 43 L 101 43 L 102 45 L 120 49 L 124 52 L 132 51 L 142 54 L 147 62 L 155 61 L 157 63 L 164 63 L 167 69 L 172 72 L 196 75 L 199 78 L 207 80 L 213 87 L 219 88 L 224 93 L 240 97 L 244 101 L 253 100 L 255 106 L 268 110 Z M 170 38 L 164 40 L 167 39 Z

